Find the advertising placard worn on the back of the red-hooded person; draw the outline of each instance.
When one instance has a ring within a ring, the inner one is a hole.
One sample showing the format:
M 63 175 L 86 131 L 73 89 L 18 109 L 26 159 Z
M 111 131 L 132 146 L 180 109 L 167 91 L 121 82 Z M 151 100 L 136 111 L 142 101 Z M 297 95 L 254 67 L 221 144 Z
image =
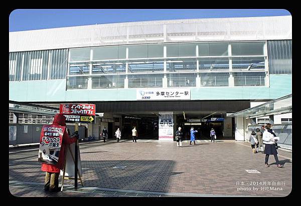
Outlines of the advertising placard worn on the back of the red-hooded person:
M 38 161 L 47 164 L 57 164 L 60 157 L 63 134 L 66 127 L 44 125 L 40 136 Z

